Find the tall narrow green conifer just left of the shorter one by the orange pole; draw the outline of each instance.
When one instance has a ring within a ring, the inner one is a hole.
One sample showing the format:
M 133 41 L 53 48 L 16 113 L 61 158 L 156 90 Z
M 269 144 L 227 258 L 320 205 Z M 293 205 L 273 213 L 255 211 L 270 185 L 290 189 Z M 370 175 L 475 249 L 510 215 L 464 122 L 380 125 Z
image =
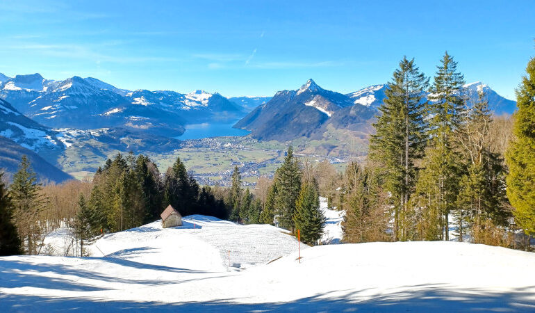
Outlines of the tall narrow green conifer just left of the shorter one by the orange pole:
M 293 216 L 295 202 L 301 190 L 301 166 L 293 155 L 293 147 L 288 147 L 282 166 L 277 169 L 277 197 L 275 198 L 275 217 L 280 227 L 294 230 Z

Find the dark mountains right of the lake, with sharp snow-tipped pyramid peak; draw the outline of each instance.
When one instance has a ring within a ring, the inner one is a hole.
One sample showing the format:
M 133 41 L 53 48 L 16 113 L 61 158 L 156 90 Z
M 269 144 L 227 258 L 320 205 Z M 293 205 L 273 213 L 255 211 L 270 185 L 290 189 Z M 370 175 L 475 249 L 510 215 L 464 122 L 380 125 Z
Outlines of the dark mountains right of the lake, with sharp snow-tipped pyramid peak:
M 373 85 L 343 95 L 324 90 L 308 79 L 297 90 L 279 91 L 234 127 L 247 129 L 252 137 L 267 141 L 288 141 L 302 136 L 321 138 L 329 127 L 369 134 L 377 108 L 386 97 L 386 88 L 386 84 Z M 516 109 L 516 102 L 505 99 L 480 82 L 464 86 L 468 103 L 478 101 L 481 90 L 495 114 L 511 114 Z

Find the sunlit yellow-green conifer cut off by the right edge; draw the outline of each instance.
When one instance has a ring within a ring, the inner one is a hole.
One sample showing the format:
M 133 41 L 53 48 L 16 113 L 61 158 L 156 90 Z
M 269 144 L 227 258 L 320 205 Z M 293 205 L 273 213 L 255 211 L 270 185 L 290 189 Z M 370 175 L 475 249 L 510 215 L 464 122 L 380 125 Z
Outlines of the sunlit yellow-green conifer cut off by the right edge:
M 516 223 L 528 236 L 535 235 L 535 58 L 516 90 L 515 140 L 507 150 L 507 196 Z

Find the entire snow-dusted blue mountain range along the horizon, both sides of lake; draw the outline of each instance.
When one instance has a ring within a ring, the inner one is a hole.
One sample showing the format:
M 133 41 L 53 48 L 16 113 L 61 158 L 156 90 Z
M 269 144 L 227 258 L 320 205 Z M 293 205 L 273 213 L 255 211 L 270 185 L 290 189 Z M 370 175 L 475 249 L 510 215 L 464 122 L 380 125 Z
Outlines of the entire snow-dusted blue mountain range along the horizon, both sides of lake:
M 180 147 L 176 138 L 186 125 L 236 120 L 234 127 L 260 141 L 303 138 L 317 142 L 314 153 L 328 154 L 354 149 L 353 143 L 340 145 L 356 138 L 357 149 L 365 150 L 386 88 L 379 84 L 343 94 L 309 79 L 273 97 L 227 98 L 204 90 L 126 90 L 91 77 L 53 81 L 40 74 L 0 74 L 0 137 L 69 172 L 92 171 L 110 153 L 172 152 Z M 483 83 L 470 83 L 464 90 L 469 102 L 484 90 L 497 114 L 516 109 L 516 102 Z

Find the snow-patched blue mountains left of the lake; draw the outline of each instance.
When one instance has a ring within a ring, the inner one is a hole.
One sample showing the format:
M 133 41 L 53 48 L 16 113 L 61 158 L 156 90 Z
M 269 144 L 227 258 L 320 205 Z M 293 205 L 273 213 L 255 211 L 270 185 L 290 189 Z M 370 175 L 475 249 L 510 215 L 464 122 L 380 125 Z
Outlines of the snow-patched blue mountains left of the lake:
M 64 81 L 47 80 L 40 74 L 6 77 L 0 81 L 0 97 L 49 127 L 124 127 L 155 134 L 169 131 L 170 137 L 183 134 L 186 122 L 235 120 L 245 115 L 242 106 L 218 93 L 130 91 L 92 77 Z

